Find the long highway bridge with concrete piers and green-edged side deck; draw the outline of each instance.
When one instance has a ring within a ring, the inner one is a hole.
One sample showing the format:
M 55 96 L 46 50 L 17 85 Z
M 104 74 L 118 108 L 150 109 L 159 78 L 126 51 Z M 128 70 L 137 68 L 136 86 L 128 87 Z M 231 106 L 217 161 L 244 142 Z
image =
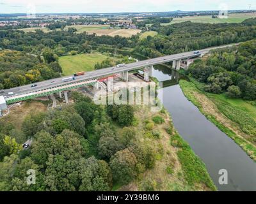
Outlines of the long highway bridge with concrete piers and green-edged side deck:
M 211 47 L 205 48 L 203 50 L 198 50 L 200 52 L 184 52 L 180 54 L 173 54 L 173 55 L 166 55 L 164 57 L 157 57 L 154 59 L 147 59 L 144 61 L 133 62 L 131 64 L 125 64 L 122 67 L 111 67 L 111 68 L 104 68 L 95 71 L 87 72 L 85 75 L 77 76 L 74 80 L 69 82 L 63 82 L 64 78 L 54 78 L 51 80 L 45 80 L 44 82 L 36 83 L 36 87 L 31 87 L 32 84 L 23 85 L 20 87 L 15 87 L 12 89 L 4 89 L 0 93 L 0 97 L 5 99 L 6 104 L 15 103 L 18 101 L 24 101 L 26 99 L 36 98 L 39 96 L 47 96 L 49 94 L 61 91 L 67 91 L 70 89 L 76 89 L 77 87 L 81 87 L 88 84 L 95 84 L 97 83 L 98 79 L 102 77 L 106 77 L 108 75 L 113 74 L 120 74 L 122 78 L 127 82 L 128 81 L 128 71 L 133 71 L 140 68 L 145 68 L 145 81 L 148 81 L 148 77 L 152 74 L 152 66 L 156 64 L 164 64 L 166 62 L 173 62 L 173 69 L 180 69 L 180 61 L 184 59 L 190 59 L 193 57 L 200 57 L 204 54 L 207 54 L 211 50 L 218 49 L 218 48 L 225 48 L 225 47 L 232 47 L 238 44 L 232 45 L 223 45 L 220 47 Z M 83 71 L 83 70 L 81 70 Z M 147 73 L 147 74 L 146 74 Z M 69 76 L 73 77 L 73 76 Z M 12 92 L 13 94 L 10 95 L 8 93 Z M 0 106 L 1 109 L 1 106 Z M 3 108 L 2 108 L 3 110 Z

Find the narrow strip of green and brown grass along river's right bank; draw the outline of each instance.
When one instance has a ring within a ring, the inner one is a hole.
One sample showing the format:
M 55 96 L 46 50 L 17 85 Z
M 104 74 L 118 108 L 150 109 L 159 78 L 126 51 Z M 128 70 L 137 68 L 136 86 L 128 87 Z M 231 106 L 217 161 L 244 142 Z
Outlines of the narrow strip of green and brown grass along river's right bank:
M 193 80 L 191 82 L 180 80 L 180 88 L 184 92 L 185 96 L 198 107 L 200 112 L 202 112 L 207 119 L 215 124 L 221 131 L 223 131 L 223 133 L 232 138 L 232 140 L 234 140 L 234 142 L 236 142 L 237 145 L 239 145 L 246 154 L 248 154 L 248 156 L 256 161 L 256 147 L 252 142 L 250 135 L 244 133 L 241 126 L 234 122 L 234 120 L 232 121 L 229 119 L 231 116 L 227 115 L 227 109 L 225 114 L 223 111 L 221 112 L 218 107 L 221 105 L 218 104 L 221 103 L 220 101 L 214 101 L 214 98 L 211 97 L 211 95 L 209 97 L 208 94 L 204 94 L 204 92 L 200 91 L 194 83 Z M 234 112 L 236 112 L 237 117 L 239 117 L 239 111 L 233 106 L 231 106 L 231 108 L 234 108 Z

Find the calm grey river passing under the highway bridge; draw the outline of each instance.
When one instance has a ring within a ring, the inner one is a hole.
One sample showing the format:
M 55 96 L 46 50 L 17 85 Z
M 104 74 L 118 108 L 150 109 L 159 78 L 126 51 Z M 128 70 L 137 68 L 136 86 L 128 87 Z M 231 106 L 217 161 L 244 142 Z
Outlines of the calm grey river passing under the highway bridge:
M 204 161 L 218 191 L 256 191 L 256 163 L 188 101 L 178 84 L 179 73 L 160 65 L 152 75 L 163 82 L 159 98 L 172 115 L 175 128 Z M 222 169 L 228 172 L 227 185 L 218 181 Z

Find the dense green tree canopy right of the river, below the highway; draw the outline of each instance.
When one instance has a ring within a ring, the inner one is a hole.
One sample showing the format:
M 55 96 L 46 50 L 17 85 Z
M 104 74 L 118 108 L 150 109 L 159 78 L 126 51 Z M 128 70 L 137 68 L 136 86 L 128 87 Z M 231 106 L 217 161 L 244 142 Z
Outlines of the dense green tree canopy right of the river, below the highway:
M 216 50 L 207 60 L 196 60 L 187 73 L 204 82 L 205 91 L 227 92 L 232 98 L 255 100 L 256 41 Z

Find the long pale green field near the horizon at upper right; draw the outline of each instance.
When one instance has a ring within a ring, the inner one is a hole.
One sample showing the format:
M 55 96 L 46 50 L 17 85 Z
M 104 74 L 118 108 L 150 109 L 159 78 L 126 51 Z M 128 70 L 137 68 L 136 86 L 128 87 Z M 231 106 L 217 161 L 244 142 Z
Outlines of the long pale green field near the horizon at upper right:
M 219 24 L 219 23 L 241 23 L 248 18 L 256 17 L 256 13 L 232 13 L 228 15 L 228 18 L 212 18 L 211 15 L 206 16 L 194 16 L 194 17 L 183 17 L 183 18 L 173 18 L 172 22 L 168 24 L 161 25 L 170 25 L 177 24 L 181 22 L 191 21 L 196 23 L 209 23 L 209 24 Z

